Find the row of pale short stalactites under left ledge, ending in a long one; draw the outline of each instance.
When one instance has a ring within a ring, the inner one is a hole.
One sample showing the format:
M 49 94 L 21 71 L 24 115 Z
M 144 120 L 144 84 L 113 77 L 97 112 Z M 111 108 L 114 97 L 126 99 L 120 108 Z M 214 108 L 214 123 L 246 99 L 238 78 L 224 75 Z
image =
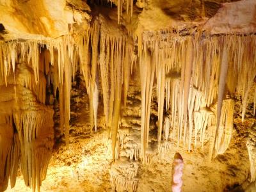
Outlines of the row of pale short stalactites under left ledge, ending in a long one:
M 79 60 L 75 36 L 61 36 L 57 39 L 19 40 L 0 42 L 0 71 L 6 86 L 8 76 L 15 74 L 16 63 L 28 62 L 35 79 L 24 76 L 23 84 L 35 90 L 39 102 L 45 103 L 46 82 L 42 81 L 42 73 L 48 76 L 48 82 L 53 84 L 54 93 L 58 89 L 60 95 L 60 127 L 61 133 L 65 127 L 68 143 L 70 120 L 70 89 L 72 76 L 74 77 Z M 14 76 L 15 83 L 15 76 Z M 38 86 L 39 84 L 39 86 Z

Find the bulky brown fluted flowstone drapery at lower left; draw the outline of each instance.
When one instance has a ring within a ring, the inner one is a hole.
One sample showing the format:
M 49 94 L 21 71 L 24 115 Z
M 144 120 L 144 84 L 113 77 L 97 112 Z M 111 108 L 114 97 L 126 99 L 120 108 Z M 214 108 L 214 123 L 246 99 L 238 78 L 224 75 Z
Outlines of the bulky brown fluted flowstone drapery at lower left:
M 19 87 L 28 98 L 33 94 Z M 38 190 L 45 179 L 53 147 L 53 110 L 40 106 L 32 100 L 22 100 L 22 108 L 14 111 L 13 120 L 20 140 L 20 166 L 25 184 Z M 31 106 L 33 108 L 31 109 Z

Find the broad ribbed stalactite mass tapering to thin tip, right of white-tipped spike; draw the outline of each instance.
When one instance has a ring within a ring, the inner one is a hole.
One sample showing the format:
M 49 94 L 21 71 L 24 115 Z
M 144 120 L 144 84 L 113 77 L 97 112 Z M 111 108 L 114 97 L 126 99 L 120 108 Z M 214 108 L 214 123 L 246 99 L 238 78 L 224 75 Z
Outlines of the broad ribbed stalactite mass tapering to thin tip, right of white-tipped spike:
M 99 65 L 106 124 L 111 127 L 112 147 L 115 148 L 122 90 L 127 90 L 129 81 L 129 76 L 124 73 L 124 70 L 131 66 L 127 62 L 132 58 L 132 49 L 127 35 L 116 24 L 111 26 L 108 20 L 100 17 L 100 25 L 100 29 L 109 29 L 100 33 Z M 118 32 L 117 35 L 116 32 Z M 115 150 L 112 152 L 115 159 Z

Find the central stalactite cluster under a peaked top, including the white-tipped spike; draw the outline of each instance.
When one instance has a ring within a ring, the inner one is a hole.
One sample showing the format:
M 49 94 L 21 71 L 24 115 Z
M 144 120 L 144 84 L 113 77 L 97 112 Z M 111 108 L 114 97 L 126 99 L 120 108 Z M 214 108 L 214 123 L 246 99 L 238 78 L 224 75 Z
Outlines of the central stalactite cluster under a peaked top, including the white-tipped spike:
M 106 31 L 107 29 L 110 31 Z M 78 37 L 76 42 L 81 71 L 90 98 L 91 131 L 93 127 L 97 131 L 100 81 L 106 126 L 111 127 L 113 159 L 116 159 L 118 154 L 115 152 L 115 146 L 120 108 L 122 104 L 125 108 L 134 56 L 133 46 L 127 34 L 118 29 L 116 24 L 113 30 L 115 31 L 111 31 L 111 24 L 107 20 L 96 17 L 92 28 L 86 35 Z M 116 35 L 118 30 L 120 33 Z

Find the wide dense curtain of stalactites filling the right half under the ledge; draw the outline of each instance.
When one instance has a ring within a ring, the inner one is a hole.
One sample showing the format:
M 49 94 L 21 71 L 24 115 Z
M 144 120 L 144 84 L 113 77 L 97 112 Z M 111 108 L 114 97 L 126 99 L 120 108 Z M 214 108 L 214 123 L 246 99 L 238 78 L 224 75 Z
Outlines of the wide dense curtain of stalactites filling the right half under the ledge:
M 192 139 L 194 138 L 196 145 L 197 132 L 202 130 L 200 141 L 203 148 L 204 132 L 211 132 L 210 129 L 213 129 L 214 143 L 211 148 L 215 148 L 214 154 L 216 155 L 227 149 L 226 145 L 220 149 L 220 143 L 229 143 L 230 140 L 229 138 L 227 141 L 220 139 L 223 138 L 221 118 L 230 116 L 234 111 L 232 106 L 230 106 L 230 113 L 225 108 L 223 109 L 225 95 L 234 97 L 235 92 L 241 95 L 242 120 L 244 120 L 248 93 L 256 76 L 255 47 L 254 35 L 208 37 L 168 34 L 163 37 L 157 33 L 156 35 L 152 35 L 152 33 L 139 35 L 140 61 L 147 58 L 145 55 L 148 51 L 152 59 L 152 61 L 143 61 L 140 64 L 141 71 L 143 71 L 141 74 L 141 143 L 144 142 L 141 150 L 147 148 L 148 130 L 145 130 L 144 124 L 147 124 L 148 120 L 143 111 L 148 110 L 150 103 L 147 103 L 147 99 L 150 102 L 151 97 L 150 79 L 147 81 L 144 79 L 147 77 L 145 74 L 147 74 L 148 65 L 150 65 L 150 70 L 156 68 L 159 142 L 162 139 L 163 90 L 165 87 L 165 109 L 166 113 L 170 114 L 170 128 L 173 131 L 170 136 L 175 136 L 172 139 L 177 140 L 178 146 L 181 143 L 191 150 Z M 148 72 L 148 74 L 150 73 Z M 163 74 L 165 75 L 163 76 Z M 143 99 L 145 93 L 146 100 Z M 216 104 L 216 101 L 218 103 L 216 114 L 212 115 L 210 108 Z M 202 111 L 204 108 L 205 112 Z M 227 114 L 221 115 L 223 110 Z M 213 122 L 212 119 L 214 119 Z M 228 132 L 232 132 L 229 129 L 232 130 L 232 128 L 228 128 Z

